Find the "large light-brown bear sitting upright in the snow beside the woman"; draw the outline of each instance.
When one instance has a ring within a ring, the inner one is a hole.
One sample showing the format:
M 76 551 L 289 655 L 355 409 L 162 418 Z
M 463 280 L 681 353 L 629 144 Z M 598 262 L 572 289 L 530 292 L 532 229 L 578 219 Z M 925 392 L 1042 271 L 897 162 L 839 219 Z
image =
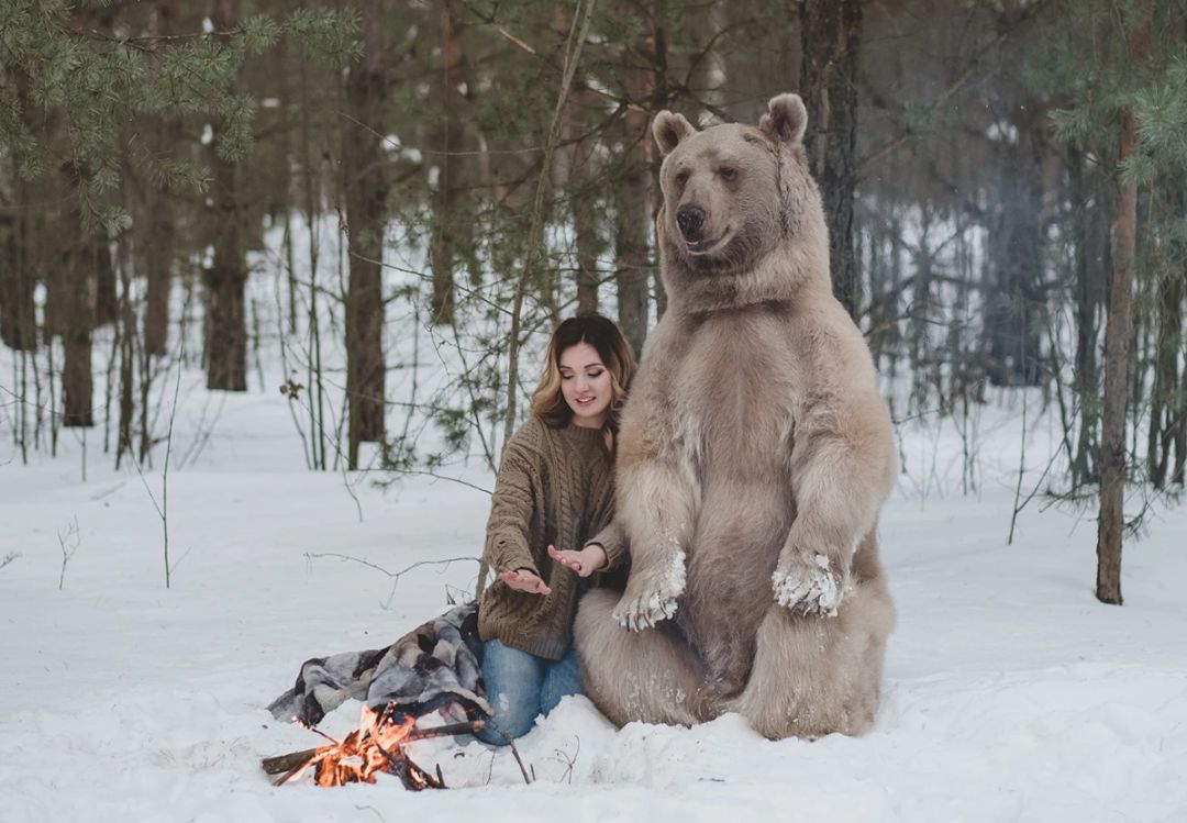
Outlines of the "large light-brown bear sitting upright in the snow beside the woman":
M 738 712 L 768 738 L 859 734 L 894 626 L 876 538 L 895 448 L 869 349 L 833 298 L 798 95 L 757 127 L 662 111 L 668 308 L 623 412 L 621 595 L 575 627 L 618 725 Z

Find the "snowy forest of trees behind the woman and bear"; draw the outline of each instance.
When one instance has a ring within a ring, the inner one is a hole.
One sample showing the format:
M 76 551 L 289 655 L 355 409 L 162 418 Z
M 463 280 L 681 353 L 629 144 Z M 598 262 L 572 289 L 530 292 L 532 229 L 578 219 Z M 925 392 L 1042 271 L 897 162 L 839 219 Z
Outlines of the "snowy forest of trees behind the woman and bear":
M 950 422 L 975 493 L 1016 408 L 1015 512 L 1098 512 L 1121 602 L 1187 462 L 1183 0 L 6 0 L 4 459 L 89 430 L 167 473 L 202 369 L 283 382 L 310 470 L 493 470 L 554 323 L 641 351 L 665 311 L 653 116 L 785 90 L 896 422 Z

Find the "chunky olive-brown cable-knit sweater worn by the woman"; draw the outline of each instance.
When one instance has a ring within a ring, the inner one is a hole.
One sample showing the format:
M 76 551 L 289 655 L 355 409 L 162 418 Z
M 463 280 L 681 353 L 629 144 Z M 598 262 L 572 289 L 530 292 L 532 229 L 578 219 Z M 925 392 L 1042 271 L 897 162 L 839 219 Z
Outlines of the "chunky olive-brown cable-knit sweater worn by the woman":
M 516 592 L 495 580 L 482 593 L 478 634 L 559 659 L 572 643 L 583 580 L 548 556 L 548 546 L 601 543 L 618 566 L 626 554 L 614 515 L 614 471 L 601 430 L 552 428 L 534 415 L 507 444 L 495 480 L 484 550 L 491 574 L 531 569 L 551 594 Z

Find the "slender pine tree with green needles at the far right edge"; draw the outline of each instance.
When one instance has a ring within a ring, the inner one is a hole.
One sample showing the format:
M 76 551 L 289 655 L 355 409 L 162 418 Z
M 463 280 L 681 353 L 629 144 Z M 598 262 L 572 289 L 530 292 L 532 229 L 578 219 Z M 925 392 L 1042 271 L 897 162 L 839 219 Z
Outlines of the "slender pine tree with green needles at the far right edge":
M 1068 72 L 1072 104 L 1054 113 L 1056 133 L 1072 145 L 1102 158 L 1115 158 L 1116 186 L 1113 213 L 1112 275 L 1109 283 L 1103 428 L 1100 441 L 1100 515 L 1097 537 L 1097 598 L 1121 604 L 1121 561 L 1125 483 L 1131 461 L 1126 446 L 1126 423 L 1138 412 L 1130 400 L 1131 340 L 1135 283 L 1149 279 L 1150 255 L 1140 248 L 1141 237 L 1155 236 L 1138 225 L 1140 197 L 1156 203 L 1163 189 L 1172 202 L 1187 167 L 1187 49 L 1183 46 L 1182 0 L 1132 0 L 1124 4 L 1075 4 L 1071 20 L 1086 24 L 1087 38 L 1073 42 L 1083 51 L 1065 55 L 1079 69 Z M 1093 59 L 1086 59 L 1092 56 Z M 1085 70 L 1087 66 L 1087 70 Z M 1149 221 L 1150 210 L 1143 210 Z M 1181 275 L 1180 275 L 1181 276 Z M 1175 289 L 1164 289 L 1164 301 L 1175 299 Z M 1173 324 L 1181 317 L 1180 305 L 1167 306 L 1164 339 L 1173 340 Z M 1178 317 L 1175 317 L 1178 315 Z M 1167 370 L 1156 366 L 1159 376 Z M 1170 375 L 1174 379 L 1174 375 Z M 1164 423 L 1166 420 L 1156 421 Z

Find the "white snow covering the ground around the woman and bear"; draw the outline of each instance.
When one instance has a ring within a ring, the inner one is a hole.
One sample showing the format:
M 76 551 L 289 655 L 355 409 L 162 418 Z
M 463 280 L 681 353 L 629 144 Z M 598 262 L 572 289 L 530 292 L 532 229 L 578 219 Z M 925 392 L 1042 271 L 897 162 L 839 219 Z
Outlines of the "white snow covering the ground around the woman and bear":
M 382 646 L 472 591 L 472 560 L 414 564 L 478 554 L 493 478 L 482 460 L 440 470 L 472 486 L 309 472 L 274 389 L 211 397 L 186 371 L 180 397 L 169 589 L 159 453 L 116 472 L 93 433 L 83 479 L 72 434 L 28 466 L 0 436 L 0 560 L 19 554 L 0 569 L 4 823 L 1187 819 L 1187 512 L 1156 504 L 1128 544 L 1123 607 L 1092 595 L 1091 512 L 1033 500 L 1008 546 L 1005 395 L 971 447 L 934 417 L 900 427 L 881 528 L 899 625 L 870 734 L 772 742 L 737 715 L 618 731 L 571 697 L 520 741 L 532 785 L 506 749 L 438 739 L 411 751 L 450 791 L 273 787 L 260 758 L 319 739 L 265 706 L 306 658 Z M 1028 432 L 1024 490 L 1055 442 L 1033 410 Z M 348 703 L 323 728 L 356 721 Z

